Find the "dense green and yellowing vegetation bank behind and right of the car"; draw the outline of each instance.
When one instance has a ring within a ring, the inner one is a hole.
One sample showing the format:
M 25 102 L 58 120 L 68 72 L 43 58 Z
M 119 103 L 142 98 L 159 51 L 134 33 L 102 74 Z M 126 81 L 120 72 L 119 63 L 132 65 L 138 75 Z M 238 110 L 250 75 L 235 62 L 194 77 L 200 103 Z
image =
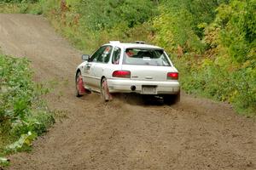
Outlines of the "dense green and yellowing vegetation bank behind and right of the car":
M 166 48 L 188 94 L 256 115 L 255 0 L 5 0 L 0 11 L 7 3 L 44 14 L 84 53 L 109 40 Z

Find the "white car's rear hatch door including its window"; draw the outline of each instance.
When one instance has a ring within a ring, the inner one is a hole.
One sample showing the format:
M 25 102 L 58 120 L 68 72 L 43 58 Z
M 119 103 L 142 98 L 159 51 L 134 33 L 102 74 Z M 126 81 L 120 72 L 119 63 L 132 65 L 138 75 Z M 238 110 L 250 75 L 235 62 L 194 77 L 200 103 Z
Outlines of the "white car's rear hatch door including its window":
M 159 48 L 126 48 L 122 70 L 131 71 L 132 80 L 143 81 L 166 81 L 168 73 L 177 72 Z

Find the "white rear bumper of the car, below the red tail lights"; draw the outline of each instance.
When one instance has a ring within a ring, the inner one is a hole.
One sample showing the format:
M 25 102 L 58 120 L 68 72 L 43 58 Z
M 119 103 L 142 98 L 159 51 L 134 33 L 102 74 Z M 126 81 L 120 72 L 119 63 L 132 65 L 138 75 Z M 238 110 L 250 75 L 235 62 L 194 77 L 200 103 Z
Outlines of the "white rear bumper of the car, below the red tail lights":
M 131 87 L 136 87 L 131 90 Z M 178 94 L 180 85 L 177 81 L 138 81 L 126 79 L 108 79 L 108 89 L 110 93 L 143 93 L 143 86 L 155 87 L 155 94 Z

